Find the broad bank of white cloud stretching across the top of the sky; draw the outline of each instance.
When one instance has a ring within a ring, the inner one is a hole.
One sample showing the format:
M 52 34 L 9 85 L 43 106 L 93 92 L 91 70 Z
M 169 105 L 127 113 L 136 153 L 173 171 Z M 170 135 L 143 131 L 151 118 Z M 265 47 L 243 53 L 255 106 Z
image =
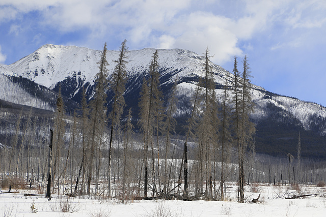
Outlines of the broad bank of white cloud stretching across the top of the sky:
M 224 16 L 218 14 L 224 1 L 200 4 L 206 7 L 199 7 L 196 0 L 3 0 L 0 23 L 38 11 L 42 17 L 34 22 L 50 25 L 59 33 L 86 28 L 90 41 L 121 36 L 131 48 L 184 48 L 203 53 L 208 46 L 211 54 L 215 54 L 212 60 L 218 64 L 231 60 L 233 55 L 242 55 L 241 48 L 254 50 L 250 40 L 257 33 L 273 32 L 275 25 L 283 29 L 321 28 L 326 23 L 323 13 L 326 4 L 319 0 L 238 0 L 234 2 L 237 13 L 224 13 Z M 200 11 L 209 7 L 216 9 Z M 19 34 L 19 25 L 13 24 L 10 32 Z M 292 41 L 291 46 L 304 43 Z M 239 42 L 250 46 L 241 46 Z M 286 44 L 290 45 L 282 39 L 271 49 Z

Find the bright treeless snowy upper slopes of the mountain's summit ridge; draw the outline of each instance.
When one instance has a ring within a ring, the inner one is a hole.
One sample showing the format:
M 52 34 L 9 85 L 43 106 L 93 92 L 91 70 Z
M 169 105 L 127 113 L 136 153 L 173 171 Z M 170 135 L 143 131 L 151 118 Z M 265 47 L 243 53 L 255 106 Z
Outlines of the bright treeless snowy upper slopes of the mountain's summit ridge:
M 152 48 L 129 51 L 128 75 L 134 77 L 147 71 L 154 51 L 155 49 Z M 53 88 L 67 77 L 72 77 L 74 73 L 77 73 L 77 77 L 82 78 L 85 83 L 92 83 L 98 72 L 97 62 L 100 54 L 101 51 L 88 48 L 44 45 L 34 53 L 7 66 L 7 69 L 49 88 Z M 159 66 L 165 71 L 162 76 L 173 71 L 177 73 L 171 76 L 172 79 L 176 76 L 182 78 L 202 74 L 204 59 L 194 52 L 182 49 L 159 49 L 158 55 Z M 109 76 L 113 72 L 114 60 L 117 58 L 118 51 L 107 51 Z M 218 65 L 213 66 L 213 71 L 215 80 L 222 83 L 227 71 Z

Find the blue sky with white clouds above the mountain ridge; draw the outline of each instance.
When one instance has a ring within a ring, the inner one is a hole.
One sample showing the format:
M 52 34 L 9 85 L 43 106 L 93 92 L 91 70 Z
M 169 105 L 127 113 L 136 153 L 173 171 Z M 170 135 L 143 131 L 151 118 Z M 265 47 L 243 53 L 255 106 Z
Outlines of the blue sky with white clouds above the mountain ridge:
M 232 71 L 249 57 L 252 82 L 326 106 L 324 0 L 0 0 L 0 64 L 44 44 L 116 50 L 183 48 Z

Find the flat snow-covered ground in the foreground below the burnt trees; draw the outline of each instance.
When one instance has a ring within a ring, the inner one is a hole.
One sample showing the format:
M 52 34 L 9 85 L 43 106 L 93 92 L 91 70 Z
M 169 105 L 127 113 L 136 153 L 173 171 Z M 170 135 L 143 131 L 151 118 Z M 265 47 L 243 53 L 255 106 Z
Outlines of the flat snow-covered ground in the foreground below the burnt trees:
M 51 201 L 44 196 L 24 196 L 24 193 L 37 193 L 31 190 L 19 190 L 19 194 L 0 194 L 0 214 L 2 216 L 325 216 L 326 189 L 320 187 L 295 187 L 255 184 L 246 187 L 246 203 L 237 203 L 236 185 L 228 188 L 230 201 L 164 201 L 99 200 L 93 198 L 61 199 L 53 195 Z M 2 190 L 4 191 L 4 190 Z M 258 203 L 251 203 L 261 194 Z M 298 199 L 286 197 L 314 194 Z M 35 204 L 36 213 L 31 206 Z M 73 210 L 62 212 L 60 204 L 70 205 Z

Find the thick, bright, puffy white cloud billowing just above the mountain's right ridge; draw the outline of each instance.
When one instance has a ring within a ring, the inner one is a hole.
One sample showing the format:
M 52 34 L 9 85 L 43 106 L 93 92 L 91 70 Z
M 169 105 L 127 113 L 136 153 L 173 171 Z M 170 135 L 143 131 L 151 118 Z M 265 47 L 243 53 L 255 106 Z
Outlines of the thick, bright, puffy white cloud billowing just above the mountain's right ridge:
M 237 47 L 237 37 L 229 29 L 228 24 L 232 20 L 214 16 L 203 12 L 192 13 L 174 21 L 174 24 L 167 26 L 167 29 L 178 29 L 159 38 L 157 46 L 160 48 L 183 48 L 204 53 L 208 46 L 211 59 L 215 63 L 225 63 L 233 55 L 240 55 L 242 52 Z

